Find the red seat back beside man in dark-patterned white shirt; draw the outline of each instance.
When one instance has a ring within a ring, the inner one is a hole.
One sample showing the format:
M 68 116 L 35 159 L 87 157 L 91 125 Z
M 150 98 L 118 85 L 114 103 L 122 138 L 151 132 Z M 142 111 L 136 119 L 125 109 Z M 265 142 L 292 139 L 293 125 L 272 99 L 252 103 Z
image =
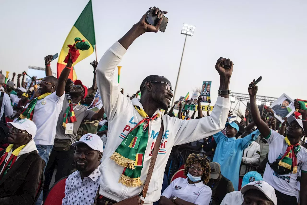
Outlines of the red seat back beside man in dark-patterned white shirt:
M 57 181 L 49 190 L 43 205 L 61 205 L 65 197 L 65 182 L 68 176 Z

